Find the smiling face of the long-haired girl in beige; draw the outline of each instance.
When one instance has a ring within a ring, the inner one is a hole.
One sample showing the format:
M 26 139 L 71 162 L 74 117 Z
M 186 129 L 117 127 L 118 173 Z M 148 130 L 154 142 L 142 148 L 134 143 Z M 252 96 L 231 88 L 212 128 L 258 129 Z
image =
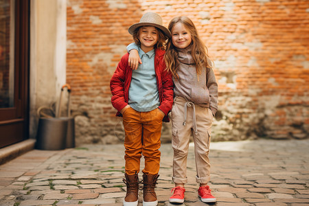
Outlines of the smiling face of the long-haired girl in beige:
M 191 42 L 192 36 L 183 23 L 175 23 L 174 27 L 172 27 L 172 44 L 179 49 L 185 49 Z

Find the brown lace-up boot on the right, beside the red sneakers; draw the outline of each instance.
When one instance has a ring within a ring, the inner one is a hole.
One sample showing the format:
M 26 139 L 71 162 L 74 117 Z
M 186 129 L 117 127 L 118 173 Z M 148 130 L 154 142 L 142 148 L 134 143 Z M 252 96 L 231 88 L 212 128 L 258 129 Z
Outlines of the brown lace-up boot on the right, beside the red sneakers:
M 158 205 L 155 187 L 159 174 L 143 174 L 143 206 Z

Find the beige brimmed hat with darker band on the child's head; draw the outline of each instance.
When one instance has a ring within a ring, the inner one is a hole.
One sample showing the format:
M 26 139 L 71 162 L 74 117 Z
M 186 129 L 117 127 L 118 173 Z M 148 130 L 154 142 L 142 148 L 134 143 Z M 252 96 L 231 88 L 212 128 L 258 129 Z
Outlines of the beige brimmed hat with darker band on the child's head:
M 139 21 L 139 23 L 135 23 L 133 25 L 131 25 L 128 28 L 128 32 L 133 35 L 134 31 L 138 28 L 138 27 L 142 27 L 142 26 L 154 26 L 159 28 L 160 30 L 162 30 L 162 32 L 168 36 L 168 38 L 170 38 L 171 34 L 170 34 L 170 30 L 168 30 L 168 28 L 163 26 L 162 23 L 162 18 L 161 16 L 159 16 L 159 14 L 156 14 L 154 12 L 147 12 L 146 14 L 144 14 L 143 16 L 141 16 L 141 20 Z

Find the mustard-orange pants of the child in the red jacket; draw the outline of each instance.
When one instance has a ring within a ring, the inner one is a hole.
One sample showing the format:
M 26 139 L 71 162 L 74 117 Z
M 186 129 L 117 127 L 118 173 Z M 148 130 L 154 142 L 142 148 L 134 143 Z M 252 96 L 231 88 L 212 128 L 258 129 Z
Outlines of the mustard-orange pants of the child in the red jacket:
M 139 172 L 141 155 L 145 159 L 145 168 L 142 172 L 158 174 L 162 119 L 163 115 L 159 112 L 159 108 L 149 112 L 139 112 L 129 107 L 124 111 L 126 174 L 132 175 Z

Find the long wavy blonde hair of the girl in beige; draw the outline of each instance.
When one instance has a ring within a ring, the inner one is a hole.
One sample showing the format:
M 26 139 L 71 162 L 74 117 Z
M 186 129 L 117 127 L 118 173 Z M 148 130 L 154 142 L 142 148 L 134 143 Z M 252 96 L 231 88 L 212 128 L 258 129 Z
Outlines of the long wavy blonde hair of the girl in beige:
M 170 24 L 168 25 L 168 29 L 172 32 L 172 28 L 176 23 L 182 23 L 187 32 L 190 32 L 192 41 L 192 58 L 196 65 L 196 73 L 197 75 L 201 75 L 203 68 L 211 67 L 210 58 L 208 56 L 208 49 L 201 41 L 201 38 L 198 36 L 198 32 L 194 23 L 187 16 L 177 16 L 174 17 Z M 176 47 L 172 44 L 172 38 L 168 39 L 168 43 L 166 44 L 165 49 L 165 64 L 168 69 L 172 73 L 175 79 L 179 78 L 177 75 L 177 70 L 179 69 L 179 60 L 178 60 L 178 52 Z

